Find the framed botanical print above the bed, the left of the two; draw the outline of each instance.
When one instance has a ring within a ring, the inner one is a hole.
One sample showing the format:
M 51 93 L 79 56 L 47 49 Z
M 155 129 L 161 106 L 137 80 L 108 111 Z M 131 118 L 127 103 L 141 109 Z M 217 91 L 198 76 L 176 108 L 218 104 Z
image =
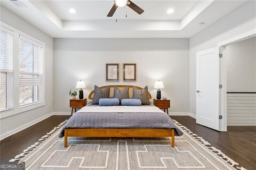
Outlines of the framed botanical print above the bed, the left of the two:
M 119 64 L 106 64 L 106 81 L 119 81 Z

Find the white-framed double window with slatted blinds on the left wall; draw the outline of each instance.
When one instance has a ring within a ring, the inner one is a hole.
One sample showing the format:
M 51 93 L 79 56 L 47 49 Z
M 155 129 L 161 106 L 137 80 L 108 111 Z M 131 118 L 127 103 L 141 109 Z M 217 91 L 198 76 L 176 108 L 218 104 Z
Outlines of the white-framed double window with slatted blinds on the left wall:
M 0 22 L 0 119 L 45 105 L 45 43 Z

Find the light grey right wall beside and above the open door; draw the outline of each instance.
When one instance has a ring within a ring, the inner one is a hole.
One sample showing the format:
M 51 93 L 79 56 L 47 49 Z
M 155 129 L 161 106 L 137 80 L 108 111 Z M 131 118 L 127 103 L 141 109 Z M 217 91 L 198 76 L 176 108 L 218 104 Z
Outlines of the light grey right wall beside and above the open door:
M 196 115 L 196 52 L 256 29 L 256 2 L 248 1 L 190 38 L 190 113 Z M 204 21 L 207 22 L 207 21 Z

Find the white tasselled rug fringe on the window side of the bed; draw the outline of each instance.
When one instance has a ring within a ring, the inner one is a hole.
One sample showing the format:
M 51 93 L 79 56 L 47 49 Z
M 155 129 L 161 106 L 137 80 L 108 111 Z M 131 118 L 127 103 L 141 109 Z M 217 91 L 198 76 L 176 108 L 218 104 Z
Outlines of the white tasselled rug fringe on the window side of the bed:
M 46 133 L 46 135 L 42 136 L 42 138 L 38 139 L 39 142 L 35 142 L 34 144 L 32 144 L 31 146 L 29 146 L 28 148 L 24 149 L 22 153 L 16 155 L 13 159 L 10 159 L 9 162 L 14 162 L 14 161 L 19 161 L 21 160 L 24 156 L 26 156 L 27 154 L 29 154 L 32 150 L 34 150 L 37 146 L 39 146 L 42 142 L 44 142 L 46 139 L 48 139 L 50 136 L 52 136 L 52 134 L 54 134 L 57 130 L 59 130 L 60 128 L 62 128 L 66 123 L 67 123 L 67 119 L 65 121 L 63 121 L 62 123 L 60 123 L 60 125 L 58 125 L 57 127 L 54 127 L 50 132 Z

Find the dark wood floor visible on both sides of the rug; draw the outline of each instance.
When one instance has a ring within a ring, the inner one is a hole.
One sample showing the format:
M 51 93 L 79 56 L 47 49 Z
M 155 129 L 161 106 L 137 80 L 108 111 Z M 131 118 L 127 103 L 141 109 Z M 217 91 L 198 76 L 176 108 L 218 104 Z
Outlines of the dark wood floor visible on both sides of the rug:
M 38 142 L 53 127 L 70 116 L 53 115 L 0 141 L 0 161 L 9 161 L 31 144 Z M 212 146 L 238 162 L 248 170 L 256 169 L 256 127 L 228 127 L 228 132 L 218 132 L 196 124 L 190 116 L 171 116 L 198 136 L 202 136 Z

